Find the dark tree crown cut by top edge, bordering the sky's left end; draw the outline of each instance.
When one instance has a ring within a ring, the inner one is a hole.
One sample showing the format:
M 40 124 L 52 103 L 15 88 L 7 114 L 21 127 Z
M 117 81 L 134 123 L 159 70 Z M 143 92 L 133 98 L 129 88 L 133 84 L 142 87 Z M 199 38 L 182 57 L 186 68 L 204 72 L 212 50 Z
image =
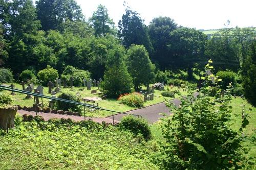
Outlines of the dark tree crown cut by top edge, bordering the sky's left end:
M 83 20 L 80 6 L 74 0 L 39 0 L 36 10 L 44 31 L 59 29 L 67 19 Z

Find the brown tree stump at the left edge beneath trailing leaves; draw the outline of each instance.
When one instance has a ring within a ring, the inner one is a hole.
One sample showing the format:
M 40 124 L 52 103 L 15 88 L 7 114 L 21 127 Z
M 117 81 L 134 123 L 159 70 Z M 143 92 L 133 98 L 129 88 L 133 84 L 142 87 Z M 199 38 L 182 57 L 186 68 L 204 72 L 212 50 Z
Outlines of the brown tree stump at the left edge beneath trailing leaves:
M 14 127 L 14 119 L 17 110 L 17 107 L 0 108 L 0 129 L 7 130 Z

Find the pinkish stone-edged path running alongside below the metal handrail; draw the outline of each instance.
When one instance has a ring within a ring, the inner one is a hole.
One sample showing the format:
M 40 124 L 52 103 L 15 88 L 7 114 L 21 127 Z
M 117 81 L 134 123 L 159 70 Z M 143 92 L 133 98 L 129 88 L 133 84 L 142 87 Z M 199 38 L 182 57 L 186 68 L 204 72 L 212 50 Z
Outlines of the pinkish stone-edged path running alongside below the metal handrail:
M 33 115 L 36 116 L 36 113 L 34 111 L 26 111 L 26 110 L 18 110 L 17 111 L 19 114 L 24 115 Z M 77 122 L 84 120 L 83 116 L 75 116 L 75 115 L 67 115 L 67 114 L 55 114 L 55 113 L 44 113 L 44 112 L 38 112 L 37 115 L 42 116 L 46 121 L 49 120 L 50 118 L 65 118 L 65 119 L 72 119 Z M 94 122 L 97 123 L 102 123 L 103 121 L 105 123 L 113 124 L 113 120 L 110 118 L 105 118 L 105 117 L 86 117 L 86 120 L 92 119 Z M 119 123 L 117 120 L 114 120 L 114 124 Z

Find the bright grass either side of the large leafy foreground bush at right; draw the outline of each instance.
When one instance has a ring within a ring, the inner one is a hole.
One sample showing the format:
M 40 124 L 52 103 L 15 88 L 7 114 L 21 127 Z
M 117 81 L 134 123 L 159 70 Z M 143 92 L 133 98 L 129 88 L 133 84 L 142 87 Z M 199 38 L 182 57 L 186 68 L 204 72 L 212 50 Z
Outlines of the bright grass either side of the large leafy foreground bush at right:
M 242 110 L 245 108 L 245 112 L 248 113 L 250 116 L 249 118 L 249 125 L 245 129 L 245 135 L 247 136 L 246 139 L 243 141 L 243 146 L 247 149 L 249 149 L 249 152 L 246 154 L 246 158 L 256 162 L 256 145 L 255 145 L 255 139 L 256 139 L 256 107 L 251 106 L 246 100 L 243 100 L 242 98 L 233 98 L 231 102 L 232 106 L 232 118 L 235 120 L 234 124 L 231 126 L 231 128 L 235 130 L 239 130 L 241 126 L 241 115 Z M 159 120 L 159 122 L 156 122 L 155 124 L 151 125 L 151 131 L 154 139 L 158 140 L 164 140 L 162 131 L 161 131 L 161 125 L 162 122 Z M 256 168 L 256 166 L 253 167 L 246 167 L 245 169 L 253 169 Z

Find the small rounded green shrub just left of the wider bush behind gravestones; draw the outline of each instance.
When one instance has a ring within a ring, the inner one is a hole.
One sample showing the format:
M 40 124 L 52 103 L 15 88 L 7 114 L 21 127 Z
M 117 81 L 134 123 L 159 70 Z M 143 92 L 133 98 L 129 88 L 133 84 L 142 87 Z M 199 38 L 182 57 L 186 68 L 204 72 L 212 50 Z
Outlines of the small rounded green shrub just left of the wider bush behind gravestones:
M 47 66 L 47 68 L 42 69 L 37 74 L 38 79 L 42 82 L 42 85 L 47 86 L 49 81 L 54 81 L 59 77 L 58 71 L 51 66 Z

